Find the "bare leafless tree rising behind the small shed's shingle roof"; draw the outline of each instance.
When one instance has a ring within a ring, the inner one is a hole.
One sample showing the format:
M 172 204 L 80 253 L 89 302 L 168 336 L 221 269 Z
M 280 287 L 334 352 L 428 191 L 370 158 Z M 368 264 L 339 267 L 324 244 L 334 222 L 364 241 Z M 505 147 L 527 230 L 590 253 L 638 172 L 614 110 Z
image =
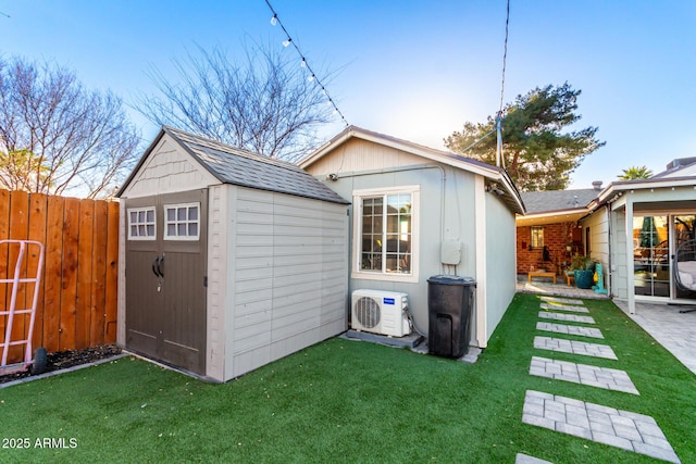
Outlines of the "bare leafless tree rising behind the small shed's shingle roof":
M 159 95 L 140 96 L 136 109 L 160 125 L 295 161 L 315 146 L 316 128 L 331 121 L 331 108 L 295 55 L 258 43 L 244 47 L 241 62 L 220 48 L 198 48 L 197 55 L 174 60 L 176 83 L 152 71 Z

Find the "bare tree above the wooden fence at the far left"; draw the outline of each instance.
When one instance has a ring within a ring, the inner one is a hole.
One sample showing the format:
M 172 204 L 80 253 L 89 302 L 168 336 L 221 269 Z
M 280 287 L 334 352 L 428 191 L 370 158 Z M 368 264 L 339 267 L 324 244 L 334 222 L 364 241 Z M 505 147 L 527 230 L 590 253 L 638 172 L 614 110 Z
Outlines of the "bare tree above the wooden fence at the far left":
M 121 99 L 66 68 L 0 58 L 0 185 L 61 195 L 107 191 L 139 154 Z

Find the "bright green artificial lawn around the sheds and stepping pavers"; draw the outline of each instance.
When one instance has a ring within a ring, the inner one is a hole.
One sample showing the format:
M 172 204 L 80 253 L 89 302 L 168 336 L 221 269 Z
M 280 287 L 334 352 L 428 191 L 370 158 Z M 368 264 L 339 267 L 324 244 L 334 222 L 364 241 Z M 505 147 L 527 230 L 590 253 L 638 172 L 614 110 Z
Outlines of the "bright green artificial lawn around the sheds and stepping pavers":
M 2 444 L 30 443 L 0 462 L 655 462 L 522 424 L 527 389 L 650 415 L 696 462 L 696 376 L 613 303 L 585 305 L 619 361 L 533 349 L 573 337 L 536 331 L 538 297 L 518 294 L 476 364 L 335 338 L 225 385 L 125 358 L 0 389 Z M 641 396 L 530 376 L 533 355 L 624 369 Z

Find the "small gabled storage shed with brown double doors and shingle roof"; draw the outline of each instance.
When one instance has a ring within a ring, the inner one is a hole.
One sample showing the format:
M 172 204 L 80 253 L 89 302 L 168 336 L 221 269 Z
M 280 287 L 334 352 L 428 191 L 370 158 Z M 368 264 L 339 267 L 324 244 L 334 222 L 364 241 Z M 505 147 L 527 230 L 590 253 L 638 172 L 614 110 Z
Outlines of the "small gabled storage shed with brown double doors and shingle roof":
M 348 201 L 162 127 L 121 199 L 119 343 L 226 381 L 346 330 Z

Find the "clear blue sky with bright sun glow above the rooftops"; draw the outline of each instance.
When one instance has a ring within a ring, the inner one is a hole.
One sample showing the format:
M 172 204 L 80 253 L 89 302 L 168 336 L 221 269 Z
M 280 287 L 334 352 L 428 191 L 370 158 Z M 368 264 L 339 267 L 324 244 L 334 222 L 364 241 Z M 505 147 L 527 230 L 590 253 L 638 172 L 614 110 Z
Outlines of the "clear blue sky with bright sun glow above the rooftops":
M 273 0 L 350 124 L 443 149 L 500 99 L 505 0 Z M 581 89 L 579 127 L 607 146 L 571 188 L 621 170 L 662 171 L 696 155 L 696 2 L 511 0 L 505 101 L 547 84 Z M 0 53 L 48 59 L 126 101 L 153 91 L 151 68 L 196 46 L 234 55 L 241 41 L 281 42 L 264 0 L 0 0 Z M 287 53 L 295 53 L 290 48 Z M 299 59 L 298 59 L 299 65 Z M 172 74 L 173 75 L 173 74 Z M 142 137 L 158 128 L 134 112 Z M 326 138 L 343 129 L 336 122 Z

